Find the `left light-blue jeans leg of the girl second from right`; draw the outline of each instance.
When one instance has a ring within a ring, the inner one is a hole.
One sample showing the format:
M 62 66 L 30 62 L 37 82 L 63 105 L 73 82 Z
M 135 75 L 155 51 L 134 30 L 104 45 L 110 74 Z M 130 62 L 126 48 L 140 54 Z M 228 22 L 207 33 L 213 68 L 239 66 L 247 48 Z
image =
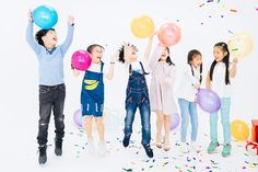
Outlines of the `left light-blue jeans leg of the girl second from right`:
M 178 99 L 178 104 L 180 107 L 181 114 L 181 131 L 180 131 L 180 140 L 181 142 L 186 142 L 187 127 L 189 123 L 189 102 L 184 99 Z

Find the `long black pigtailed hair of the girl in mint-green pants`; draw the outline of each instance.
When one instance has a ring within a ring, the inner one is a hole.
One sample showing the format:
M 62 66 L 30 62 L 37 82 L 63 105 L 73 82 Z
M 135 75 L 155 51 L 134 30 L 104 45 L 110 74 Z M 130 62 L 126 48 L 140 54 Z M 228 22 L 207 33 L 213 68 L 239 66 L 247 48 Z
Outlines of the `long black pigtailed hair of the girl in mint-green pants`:
M 216 43 L 214 45 L 214 47 L 220 47 L 223 53 L 227 53 L 227 55 L 222 59 L 222 61 L 225 64 L 226 68 L 225 68 L 225 84 L 230 84 L 231 81 L 230 81 L 230 72 L 228 72 L 228 66 L 230 66 L 230 50 L 227 48 L 227 45 L 223 42 L 221 43 Z M 212 64 L 211 64 L 211 68 L 210 68 L 210 80 L 212 81 L 212 76 L 213 76 L 213 70 L 214 70 L 214 67 L 216 65 L 216 60 L 214 60 Z

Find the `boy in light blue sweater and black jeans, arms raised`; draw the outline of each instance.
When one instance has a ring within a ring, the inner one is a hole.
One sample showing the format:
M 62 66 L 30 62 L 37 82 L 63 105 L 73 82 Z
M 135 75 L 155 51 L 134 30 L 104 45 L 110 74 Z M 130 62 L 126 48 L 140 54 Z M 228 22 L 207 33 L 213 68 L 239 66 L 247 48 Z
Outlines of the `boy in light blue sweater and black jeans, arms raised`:
M 47 136 L 51 108 L 54 110 L 56 139 L 55 153 L 62 154 L 62 138 L 64 136 L 63 105 L 66 85 L 63 83 L 63 57 L 73 38 L 74 19 L 68 18 L 68 35 L 63 44 L 57 46 L 57 35 L 54 28 L 40 30 L 33 36 L 32 11 L 28 12 L 26 41 L 37 56 L 39 62 L 39 122 L 37 142 L 39 145 L 39 164 L 47 161 Z

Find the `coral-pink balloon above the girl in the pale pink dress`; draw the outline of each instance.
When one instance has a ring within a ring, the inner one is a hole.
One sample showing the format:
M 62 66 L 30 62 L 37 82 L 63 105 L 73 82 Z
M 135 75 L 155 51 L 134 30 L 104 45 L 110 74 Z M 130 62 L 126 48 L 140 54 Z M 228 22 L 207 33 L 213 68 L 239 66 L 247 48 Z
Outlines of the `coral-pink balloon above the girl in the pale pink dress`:
M 165 46 L 172 46 L 180 39 L 180 28 L 174 23 L 165 23 L 157 32 L 157 37 Z

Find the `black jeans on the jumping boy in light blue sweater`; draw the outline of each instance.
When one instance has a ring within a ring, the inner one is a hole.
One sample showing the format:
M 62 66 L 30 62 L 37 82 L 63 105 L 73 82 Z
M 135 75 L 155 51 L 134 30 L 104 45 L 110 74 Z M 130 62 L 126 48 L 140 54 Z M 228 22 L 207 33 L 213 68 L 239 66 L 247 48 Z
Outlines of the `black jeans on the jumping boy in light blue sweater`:
M 51 110 L 54 112 L 56 139 L 62 140 L 64 136 L 63 106 L 66 99 L 66 85 L 39 85 L 39 121 L 37 142 L 39 146 L 47 144 L 48 125 Z

